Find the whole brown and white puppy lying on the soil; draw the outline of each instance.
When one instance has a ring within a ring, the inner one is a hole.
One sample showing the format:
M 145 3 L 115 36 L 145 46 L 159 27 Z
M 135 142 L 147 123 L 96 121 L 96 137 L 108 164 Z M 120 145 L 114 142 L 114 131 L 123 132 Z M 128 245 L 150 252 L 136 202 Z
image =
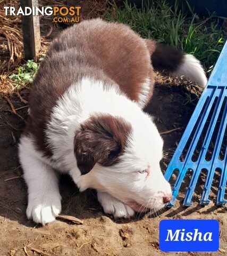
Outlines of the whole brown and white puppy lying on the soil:
M 163 141 L 142 111 L 153 67 L 206 84 L 195 57 L 122 24 L 83 21 L 53 41 L 32 85 L 19 147 L 28 218 L 45 225 L 61 212 L 57 171 L 81 191 L 97 189 L 104 211 L 116 218 L 171 200 L 159 167 Z

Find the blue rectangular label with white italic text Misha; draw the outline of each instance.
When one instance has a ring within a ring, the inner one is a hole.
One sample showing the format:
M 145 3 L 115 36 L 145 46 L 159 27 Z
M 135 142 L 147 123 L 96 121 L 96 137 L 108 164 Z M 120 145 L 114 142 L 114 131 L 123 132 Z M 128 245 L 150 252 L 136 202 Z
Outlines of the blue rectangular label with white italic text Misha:
M 217 220 L 161 220 L 159 247 L 163 252 L 215 252 L 219 247 Z

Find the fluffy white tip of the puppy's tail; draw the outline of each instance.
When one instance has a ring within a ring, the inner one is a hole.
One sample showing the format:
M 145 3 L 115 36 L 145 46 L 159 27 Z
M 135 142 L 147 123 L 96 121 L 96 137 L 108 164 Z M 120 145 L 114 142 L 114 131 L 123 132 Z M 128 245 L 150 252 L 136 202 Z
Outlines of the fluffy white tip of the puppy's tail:
M 189 79 L 202 88 L 204 88 L 207 83 L 205 71 L 200 64 L 200 61 L 191 54 L 184 55 L 182 65 L 171 75 Z

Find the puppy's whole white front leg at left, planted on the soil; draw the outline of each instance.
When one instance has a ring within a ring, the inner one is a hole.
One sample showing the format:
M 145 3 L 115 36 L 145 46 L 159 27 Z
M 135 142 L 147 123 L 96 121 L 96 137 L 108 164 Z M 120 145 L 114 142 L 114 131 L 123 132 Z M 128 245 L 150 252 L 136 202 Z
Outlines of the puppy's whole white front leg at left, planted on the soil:
M 19 156 L 28 186 L 27 217 L 45 225 L 61 212 L 61 195 L 57 173 L 37 154 L 31 139 L 22 137 Z

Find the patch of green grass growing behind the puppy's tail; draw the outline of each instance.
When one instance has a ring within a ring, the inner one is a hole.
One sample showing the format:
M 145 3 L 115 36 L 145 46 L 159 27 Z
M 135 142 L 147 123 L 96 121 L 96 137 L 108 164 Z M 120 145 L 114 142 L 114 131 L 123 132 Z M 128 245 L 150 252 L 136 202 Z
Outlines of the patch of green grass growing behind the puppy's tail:
M 157 0 L 137 9 L 126 1 L 121 7 L 113 4 L 104 18 L 128 24 L 144 38 L 154 38 L 194 54 L 206 70 L 211 71 L 224 44 L 220 19 L 209 14 L 209 18 L 201 20 L 192 9 L 190 11 L 191 17 L 186 17 L 178 2 L 171 7 L 166 1 Z

